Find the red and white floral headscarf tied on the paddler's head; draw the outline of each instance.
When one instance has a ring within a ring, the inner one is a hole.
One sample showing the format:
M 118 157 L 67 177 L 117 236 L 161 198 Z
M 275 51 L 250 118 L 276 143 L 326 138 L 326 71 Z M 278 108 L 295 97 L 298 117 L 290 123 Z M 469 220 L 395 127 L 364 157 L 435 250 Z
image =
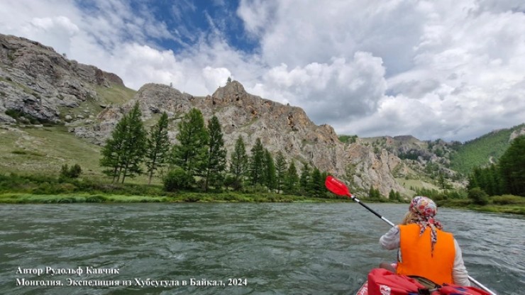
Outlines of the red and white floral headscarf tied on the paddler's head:
M 416 223 L 420 228 L 419 235 L 422 235 L 427 227 L 430 228 L 431 249 L 433 251 L 434 245 L 438 241 L 436 228 L 439 230 L 443 229 L 441 222 L 433 218 L 438 213 L 436 203 L 426 196 L 415 196 L 410 202 L 409 211 L 417 216 Z

